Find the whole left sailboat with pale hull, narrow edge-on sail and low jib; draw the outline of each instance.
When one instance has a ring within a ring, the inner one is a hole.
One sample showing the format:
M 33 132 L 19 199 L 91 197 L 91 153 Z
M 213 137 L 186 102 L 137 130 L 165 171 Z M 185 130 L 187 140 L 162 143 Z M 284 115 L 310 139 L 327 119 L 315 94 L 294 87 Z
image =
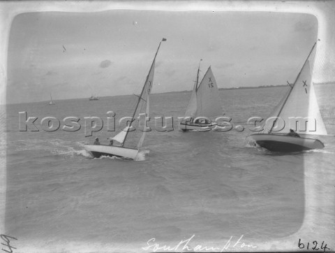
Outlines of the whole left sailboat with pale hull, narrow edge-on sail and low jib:
M 162 41 L 166 41 L 166 39 L 163 38 Z M 109 157 L 136 159 L 144 142 L 144 137 L 147 131 L 144 129 L 141 134 L 137 129 L 133 129 L 133 122 L 135 121 L 135 115 L 140 115 L 142 109 L 145 110 L 144 116 L 146 118 L 149 117 L 149 94 L 154 83 L 156 56 L 159 48 L 161 47 L 162 41 L 158 45 L 156 55 L 147 75 L 147 79 L 142 87 L 142 92 L 140 96 L 137 96 L 137 103 L 133 112 L 133 117 L 131 118 L 132 120 L 129 120 L 129 124 L 120 133 L 110 138 L 111 140 L 114 140 L 114 143 L 119 143 L 119 145 L 84 145 L 85 150 L 90 152 L 94 157 L 101 157 L 105 155 Z M 139 119 L 140 117 L 137 117 L 137 120 Z

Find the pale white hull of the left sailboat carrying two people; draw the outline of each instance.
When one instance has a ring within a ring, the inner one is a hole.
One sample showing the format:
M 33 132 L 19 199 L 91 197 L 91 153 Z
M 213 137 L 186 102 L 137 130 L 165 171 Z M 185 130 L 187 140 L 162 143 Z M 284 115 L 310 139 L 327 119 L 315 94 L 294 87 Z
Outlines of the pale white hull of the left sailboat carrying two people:
M 92 154 L 93 157 L 123 157 L 127 159 L 135 159 L 138 150 L 128 147 L 116 147 L 107 145 L 84 145 L 85 150 Z

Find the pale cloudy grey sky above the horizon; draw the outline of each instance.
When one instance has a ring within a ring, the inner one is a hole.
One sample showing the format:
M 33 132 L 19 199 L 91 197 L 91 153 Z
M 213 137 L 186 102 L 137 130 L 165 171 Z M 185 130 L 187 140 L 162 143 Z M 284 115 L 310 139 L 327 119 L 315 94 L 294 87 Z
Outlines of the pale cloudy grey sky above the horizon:
M 200 59 L 219 88 L 285 85 L 317 34 L 299 13 L 24 13 L 10 29 L 7 103 L 140 93 L 162 38 L 153 93 L 191 90 Z

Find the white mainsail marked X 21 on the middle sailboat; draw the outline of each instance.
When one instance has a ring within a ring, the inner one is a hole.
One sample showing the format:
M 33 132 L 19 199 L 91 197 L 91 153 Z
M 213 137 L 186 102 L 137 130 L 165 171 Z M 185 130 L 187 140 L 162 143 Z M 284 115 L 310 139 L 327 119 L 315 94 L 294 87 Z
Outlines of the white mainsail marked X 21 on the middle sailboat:
M 218 96 L 218 85 L 214 78 L 211 67 L 208 68 L 204 78 L 196 90 L 197 94 L 197 117 L 214 117 L 222 115 L 220 97 Z

